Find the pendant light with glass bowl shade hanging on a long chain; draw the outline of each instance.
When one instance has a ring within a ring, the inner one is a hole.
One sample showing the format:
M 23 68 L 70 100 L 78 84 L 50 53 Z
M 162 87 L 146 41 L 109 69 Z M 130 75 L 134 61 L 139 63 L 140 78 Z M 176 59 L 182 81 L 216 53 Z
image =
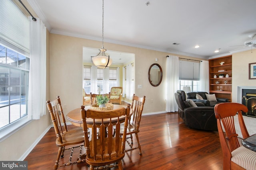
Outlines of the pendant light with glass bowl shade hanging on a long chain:
M 102 48 L 99 49 L 100 53 L 98 53 L 98 55 L 91 56 L 92 64 L 94 64 L 98 68 L 106 68 L 112 64 L 112 59 L 110 59 L 110 56 L 105 54 L 107 50 L 104 49 L 103 41 L 104 41 L 104 0 L 102 0 Z

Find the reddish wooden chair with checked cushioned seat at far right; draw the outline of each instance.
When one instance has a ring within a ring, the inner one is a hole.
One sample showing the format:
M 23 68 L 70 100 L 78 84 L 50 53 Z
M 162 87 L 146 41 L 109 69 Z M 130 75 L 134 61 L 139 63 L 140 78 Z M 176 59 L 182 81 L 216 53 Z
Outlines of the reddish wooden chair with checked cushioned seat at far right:
M 249 137 L 242 117 L 242 111 L 247 112 L 248 109 L 246 106 L 238 103 L 221 103 L 214 107 L 223 153 L 224 170 L 256 169 L 256 152 L 240 146 L 238 142 L 238 134 L 234 125 L 236 113 L 238 114 L 238 122 L 243 138 Z

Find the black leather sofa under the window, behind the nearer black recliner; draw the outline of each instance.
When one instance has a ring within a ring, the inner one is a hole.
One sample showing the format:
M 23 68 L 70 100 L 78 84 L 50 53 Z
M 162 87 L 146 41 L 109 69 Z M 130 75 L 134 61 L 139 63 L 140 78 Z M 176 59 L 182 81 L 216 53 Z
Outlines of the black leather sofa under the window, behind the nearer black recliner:
M 196 94 L 199 94 L 202 96 L 203 100 L 196 99 Z M 217 101 L 210 102 L 207 100 L 207 97 L 205 94 L 208 94 L 207 92 L 188 92 L 187 98 L 193 100 L 194 102 L 202 102 L 205 106 L 214 107 L 216 104 L 228 102 L 228 99 L 226 98 L 216 98 Z

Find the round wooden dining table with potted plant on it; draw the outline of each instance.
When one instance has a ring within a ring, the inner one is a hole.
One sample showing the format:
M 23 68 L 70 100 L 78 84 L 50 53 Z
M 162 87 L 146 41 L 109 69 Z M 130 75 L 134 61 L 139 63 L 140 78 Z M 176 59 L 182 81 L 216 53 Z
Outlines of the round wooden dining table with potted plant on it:
M 119 105 L 119 104 L 114 104 L 114 109 L 119 109 L 121 107 L 124 107 L 126 108 L 127 106 L 125 105 Z M 84 108 L 85 110 L 88 110 L 90 109 L 90 106 L 85 106 Z M 70 111 L 68 114 L 67 114 L 67 119 L 70 121 L 70 123 L 72 123 L 73 125 L 75 126 L 79 126 L 79 127 L 82 127 L 82 118 L 81 118 L 81 112 L 80 112 L 80 108 L 77 108 L 77 109 L 74 109 L 72 111 Z M 103 111 L 104 112 L 104 111 Z M 130 115 L 129 117 L 131 117 L 133 114 L 133 110 L 130 109 Z M 97 120 L 97 119 L 96 119 Z M 112 123 L 114 123 L 114 120 L 115 119 L 112 119 Z M 124 122 L 125 120 L 125 116 L 122 116 L 119 121 L 120 123 Z M 91 118 L 86 118 L 86 123 L 87 123 L 87 126 L 88 127 L 91 127 L 92 123 L 93 123 L 93 119 Z M 96 121 L 96 124 L 100 125 L 102 122 L 101 122 L 101 119 L 98 119 L 98 121 Z M 109 119 L 106 119 L 104 120 L 104 124 L 106 123 L 106 125 L 108 125 L 109 123 Z

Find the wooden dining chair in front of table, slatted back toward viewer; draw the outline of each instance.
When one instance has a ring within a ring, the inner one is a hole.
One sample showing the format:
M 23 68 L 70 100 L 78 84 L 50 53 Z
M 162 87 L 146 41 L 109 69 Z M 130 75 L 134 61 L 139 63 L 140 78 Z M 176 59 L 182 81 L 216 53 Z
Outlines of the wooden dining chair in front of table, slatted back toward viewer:
M 126 108 L 114 109 L 109 111 L 98 111 L 84 109 L 81 106 L 82 126 L 84 130 L 84 142 L 86 150 L 86 163 L 90 165 L 90 170 L 113 168 L 118 166 L 122 170 L 122 158 L 125 152 L 125 135 L 128 126 L 128 119 L 130 114 L 130 104 Z M 86 119 L 93 119 L 91 140 L 87 135 Z M 124 136 L 120 137 L 120 120 L 124 120 Z M 95 122 L 101 121 L 101 124 Z M 112 136 L 113 126 L 116 126 L 116 137 Z M 98 138 L 97 131 L 100 133 Z M 118 164 L 115 164 L 118 162 Z

